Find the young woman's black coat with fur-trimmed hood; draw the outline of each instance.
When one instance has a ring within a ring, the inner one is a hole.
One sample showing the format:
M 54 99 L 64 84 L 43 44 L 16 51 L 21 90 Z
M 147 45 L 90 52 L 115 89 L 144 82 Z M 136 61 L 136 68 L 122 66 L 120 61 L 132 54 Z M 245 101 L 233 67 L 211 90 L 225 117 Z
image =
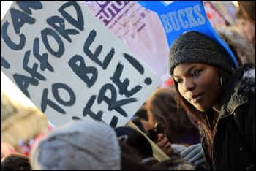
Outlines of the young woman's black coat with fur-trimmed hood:
M 255 170 L 255 68 L 241 66 L 227 85 L 214 136 L 211 170 Z M 207 151 L 202 136 L 203 151 Z M 253 165 L 252 165 L 253 164 Z M 254 166 L 254 168 L 253 168 Z

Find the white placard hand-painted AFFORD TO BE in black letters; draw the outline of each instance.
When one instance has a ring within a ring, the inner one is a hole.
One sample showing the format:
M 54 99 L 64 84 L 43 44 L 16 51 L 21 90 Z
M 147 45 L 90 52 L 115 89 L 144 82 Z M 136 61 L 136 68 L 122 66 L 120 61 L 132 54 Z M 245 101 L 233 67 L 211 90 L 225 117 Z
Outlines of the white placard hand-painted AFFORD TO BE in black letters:
M 79 1 L 13 2 L 1 20 L 1 71 L 56 126 L 124 126 L 161 83 Z

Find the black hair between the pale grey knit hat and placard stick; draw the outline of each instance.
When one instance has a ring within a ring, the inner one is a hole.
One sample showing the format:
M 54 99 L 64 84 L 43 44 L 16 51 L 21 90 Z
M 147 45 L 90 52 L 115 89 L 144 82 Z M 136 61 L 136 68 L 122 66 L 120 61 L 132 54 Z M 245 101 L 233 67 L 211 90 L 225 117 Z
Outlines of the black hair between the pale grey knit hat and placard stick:
M 127 135 L 126 143 L 141 153 L 143 158 L 153 157 L 153 150 L 150 142 L 144 137 L 143 134 L 136 129 L 127 126 L 119 126 L 114 128 L 117 137 Z

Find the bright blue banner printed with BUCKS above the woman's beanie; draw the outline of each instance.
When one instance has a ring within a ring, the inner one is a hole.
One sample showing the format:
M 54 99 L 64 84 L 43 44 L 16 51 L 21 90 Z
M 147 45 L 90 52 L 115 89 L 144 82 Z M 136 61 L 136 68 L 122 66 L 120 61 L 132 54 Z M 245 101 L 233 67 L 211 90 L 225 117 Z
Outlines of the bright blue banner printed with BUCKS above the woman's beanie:
M 216 42 L 225 53 L 227 61 L 234 69 L 238 68 L 236 57 L 211 26 L 203 1 L 172 1 L 170 4 L 164 1 L 138 1 L 138 3 L 146 9 L 157 12 L 165 29 L 169 47 L 184 32 L 198 31 Z

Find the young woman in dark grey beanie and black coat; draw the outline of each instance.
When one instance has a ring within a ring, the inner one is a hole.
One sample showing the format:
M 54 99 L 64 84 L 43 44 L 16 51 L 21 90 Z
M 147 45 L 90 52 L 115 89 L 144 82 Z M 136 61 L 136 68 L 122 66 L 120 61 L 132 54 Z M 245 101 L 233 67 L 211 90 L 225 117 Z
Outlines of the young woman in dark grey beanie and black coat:
M 196 118 L 211 170 L 255 169 L 255 67 L 236 72 L 217 45 L 196 31 L 170 47 L 178 103 Z

